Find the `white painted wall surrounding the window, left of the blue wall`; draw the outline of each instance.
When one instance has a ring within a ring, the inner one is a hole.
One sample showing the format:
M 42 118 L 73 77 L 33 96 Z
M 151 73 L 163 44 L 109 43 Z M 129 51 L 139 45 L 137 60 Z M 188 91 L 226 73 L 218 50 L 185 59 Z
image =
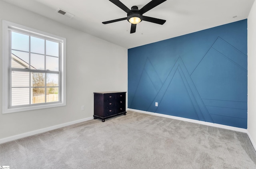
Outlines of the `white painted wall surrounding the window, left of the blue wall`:
M 67 98 L 63 107 L 9 114 L 0 112 L 0 140 L 90 118 L 93 116 L 93 92 L 127 91 L 127 49 L 0 1 L 0 107 L 2 20 L 66 38 Z M 81 111 L 82 105 L 85 105 L 85 111 Z

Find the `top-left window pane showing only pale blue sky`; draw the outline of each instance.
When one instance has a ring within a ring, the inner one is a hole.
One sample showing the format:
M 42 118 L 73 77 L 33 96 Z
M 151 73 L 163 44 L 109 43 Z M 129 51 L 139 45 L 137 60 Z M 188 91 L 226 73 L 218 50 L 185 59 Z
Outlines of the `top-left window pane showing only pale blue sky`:
M 12 49 L 29 51 L 29 35 L 12 31 Z

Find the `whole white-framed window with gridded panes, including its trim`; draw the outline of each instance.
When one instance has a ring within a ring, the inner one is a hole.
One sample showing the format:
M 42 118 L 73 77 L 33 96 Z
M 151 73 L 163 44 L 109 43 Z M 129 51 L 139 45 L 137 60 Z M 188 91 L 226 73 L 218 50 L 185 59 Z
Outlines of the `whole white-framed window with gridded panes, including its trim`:
M 66 105 L 65 43 L 3 20 L 3 113 Z

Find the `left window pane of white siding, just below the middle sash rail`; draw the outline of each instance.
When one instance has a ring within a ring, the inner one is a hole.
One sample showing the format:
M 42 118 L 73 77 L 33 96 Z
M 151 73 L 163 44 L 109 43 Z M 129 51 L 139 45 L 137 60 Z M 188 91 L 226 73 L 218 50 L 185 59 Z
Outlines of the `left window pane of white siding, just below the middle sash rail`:
M 12 87 L 29 87 L 29 72 L 12 71 Z

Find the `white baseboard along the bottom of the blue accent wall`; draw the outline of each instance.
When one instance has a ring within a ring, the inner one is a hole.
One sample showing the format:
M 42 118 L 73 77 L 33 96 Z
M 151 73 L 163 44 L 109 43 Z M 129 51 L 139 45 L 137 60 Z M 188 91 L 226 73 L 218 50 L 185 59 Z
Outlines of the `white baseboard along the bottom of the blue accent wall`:
M 131 108 L 128 108 L 127 110 L 130 110 L 130 111 L 133 111 L 133 112 L 144 113 L 144 114 L 151 114 L 151 115 L 154 115 L 154 116 L 161 116 L 161 117 L 172 118 L 172 119 L 176 119 L 176 120 L 182 120 L 182 121 L 185 121 L 185 122 L 192 122 L 192 123 L 203 124 L 203 125 L 212 126 L 212 127 L 224 128 L 224 129 L 228 129 L 228 130 L 234 130 L 234 131 L 237 131 L 237 132 L 248 133 L 247 129 L 244 129 L 244 128 L 237 128 L 237 127 L 226 126 L 226 125 L 222 125 L 222 124 L 216 124 L 216 123 L 204 122 L 204 121 L 199 121 L 199 120 L 193 120 L 193 119 L 189 119 L 189 118 L 170 116 L 170 115 L 166 115 L 166 114 L 146 112 L 146 111 L 136 110 L 136 109 L 131 109 Z

